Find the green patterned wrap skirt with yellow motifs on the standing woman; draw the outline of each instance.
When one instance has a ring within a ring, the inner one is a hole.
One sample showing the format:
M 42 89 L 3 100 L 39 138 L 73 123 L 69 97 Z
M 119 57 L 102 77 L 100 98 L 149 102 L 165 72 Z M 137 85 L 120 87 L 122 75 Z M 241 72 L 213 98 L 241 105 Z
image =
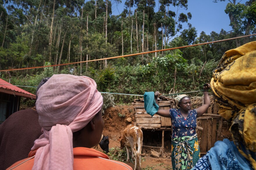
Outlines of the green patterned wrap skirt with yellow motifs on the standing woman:
M 200 158 L 197 135 L 172 139 L 172 165 L 175 170 L 191 169 Z

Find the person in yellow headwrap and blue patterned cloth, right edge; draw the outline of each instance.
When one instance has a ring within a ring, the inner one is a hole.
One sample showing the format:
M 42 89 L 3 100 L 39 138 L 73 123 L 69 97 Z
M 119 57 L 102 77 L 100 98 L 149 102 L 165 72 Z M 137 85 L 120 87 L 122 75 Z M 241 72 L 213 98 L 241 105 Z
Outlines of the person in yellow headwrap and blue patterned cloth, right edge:
M 233 141 L 217 141 L 194 169 L 256 169 L 256 41 L 222 56 L 211 89 Z

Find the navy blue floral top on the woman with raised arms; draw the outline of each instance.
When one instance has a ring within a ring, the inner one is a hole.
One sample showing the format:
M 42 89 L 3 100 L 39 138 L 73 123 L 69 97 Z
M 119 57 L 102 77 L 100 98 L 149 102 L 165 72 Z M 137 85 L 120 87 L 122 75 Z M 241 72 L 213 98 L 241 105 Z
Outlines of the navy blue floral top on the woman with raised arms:
M 180 109 L 171 108 L 170 117 L 172 120 L 172 138 L 182 136 L 193 136 L 196 134 L 196 117 L 197 110 L 189 110 L 187 118 L 184 118 L 180 112 Z

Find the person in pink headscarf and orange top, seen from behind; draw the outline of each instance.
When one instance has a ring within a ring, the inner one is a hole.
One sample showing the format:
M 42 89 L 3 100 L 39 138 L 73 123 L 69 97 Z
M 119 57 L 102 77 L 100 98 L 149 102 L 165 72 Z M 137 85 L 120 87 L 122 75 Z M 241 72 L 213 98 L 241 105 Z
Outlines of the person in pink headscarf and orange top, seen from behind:
M 103 99 L 86 76 L 53 75 L 37 92 L 36 108 L 43 134 L 29 158 L 8 169 L 131 169 L 90 149 L 101 139 Z

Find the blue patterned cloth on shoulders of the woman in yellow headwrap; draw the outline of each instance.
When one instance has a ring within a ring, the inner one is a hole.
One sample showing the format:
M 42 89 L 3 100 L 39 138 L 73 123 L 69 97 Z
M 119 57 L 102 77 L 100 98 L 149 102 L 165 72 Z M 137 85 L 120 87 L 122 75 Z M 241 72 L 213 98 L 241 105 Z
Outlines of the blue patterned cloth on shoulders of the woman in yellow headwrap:
M 206 155 L 198 160 L 193 170 L 244 170 L 253 169 L 250 162 L 243 157 L 234 142 L 224 139 L 217 141 Z

